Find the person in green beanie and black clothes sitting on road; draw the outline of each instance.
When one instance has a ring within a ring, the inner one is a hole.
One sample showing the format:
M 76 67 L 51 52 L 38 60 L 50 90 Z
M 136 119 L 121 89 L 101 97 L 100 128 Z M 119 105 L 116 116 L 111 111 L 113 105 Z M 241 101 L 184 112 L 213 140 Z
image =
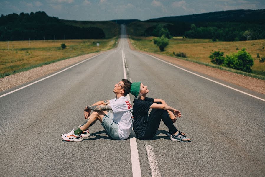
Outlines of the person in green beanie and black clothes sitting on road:
M 155 136 L 162 119 L 169 129 L 167 136 L 172 141 L 189 142 L 191 139 L 187 138 L 185 133 L 178 131 L 173 124 L 177 120 L 176 117 L 181 117 L 180 111 L 168 106 L 162 99 L 146 97 L 148 92 L 147 86 L 141 82 L 131 84 L 130 93 L 136 97 L 133 106 L 133 129 L 136 138 L 151 140 Z M 148 115 L 150 108 L 152 111 Z

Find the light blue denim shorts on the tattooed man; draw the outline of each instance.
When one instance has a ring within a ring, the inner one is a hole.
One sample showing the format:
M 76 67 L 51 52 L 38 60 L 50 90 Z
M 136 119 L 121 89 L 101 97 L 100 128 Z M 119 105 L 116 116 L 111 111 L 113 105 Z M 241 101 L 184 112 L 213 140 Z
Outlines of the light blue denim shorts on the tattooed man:
M 106 130 L 107 134 L 115 140 L 121 140 L 119 137 L 118 124 L 113 122 L 113 113 L 108 112 L 108 115 L 104 116 L 101 122 L 102 127 Z

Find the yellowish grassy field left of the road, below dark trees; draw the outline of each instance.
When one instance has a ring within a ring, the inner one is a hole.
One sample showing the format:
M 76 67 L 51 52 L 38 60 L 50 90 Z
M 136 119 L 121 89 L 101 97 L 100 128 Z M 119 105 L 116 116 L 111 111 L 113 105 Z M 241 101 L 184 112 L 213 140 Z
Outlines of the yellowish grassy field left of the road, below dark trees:
M 42 65 L 116 47 L 118 37 L 85 40 L 0 42 L 0 78 Z M 65 43 L 65 49 L 61 44 Z M 96 44 L 99 43 L 99 46 Z

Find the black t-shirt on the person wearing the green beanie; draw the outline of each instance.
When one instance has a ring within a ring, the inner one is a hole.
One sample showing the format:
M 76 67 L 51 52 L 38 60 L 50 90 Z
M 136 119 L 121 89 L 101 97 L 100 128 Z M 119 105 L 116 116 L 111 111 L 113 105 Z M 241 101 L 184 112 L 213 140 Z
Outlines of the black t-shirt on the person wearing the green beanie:
M 153 98 L 146 97 L 144 100 L 134 99 L 133 115 L 134 115 L 134 132 L 136 138 L 141 138 L 144 135 L 148 121 L 148 110 L 154 103 Z

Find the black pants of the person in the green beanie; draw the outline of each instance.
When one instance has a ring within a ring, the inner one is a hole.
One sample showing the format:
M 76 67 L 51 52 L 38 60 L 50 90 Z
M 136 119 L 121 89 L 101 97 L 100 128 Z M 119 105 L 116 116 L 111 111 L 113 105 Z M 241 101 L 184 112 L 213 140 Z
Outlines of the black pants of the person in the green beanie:
M 160 102 L 158 102 L 160 103 Z M 161 104 L 161 103 L 160 103 Z M 157 133 L 157 130 L 159 128 L 160 122 L 164 122 L 164 124 L 167 126 L 170 132 L 175 133 L 177 132 L 176 127 L 174 126 L 172 120 L 169 117 L 169 114 L 164 109 L 152 109 L 148 116 L 147 126 L 145 129 L 145 133 L 142 137 L 139 139 L 142 140 L 151 140 L 154 135 Z

